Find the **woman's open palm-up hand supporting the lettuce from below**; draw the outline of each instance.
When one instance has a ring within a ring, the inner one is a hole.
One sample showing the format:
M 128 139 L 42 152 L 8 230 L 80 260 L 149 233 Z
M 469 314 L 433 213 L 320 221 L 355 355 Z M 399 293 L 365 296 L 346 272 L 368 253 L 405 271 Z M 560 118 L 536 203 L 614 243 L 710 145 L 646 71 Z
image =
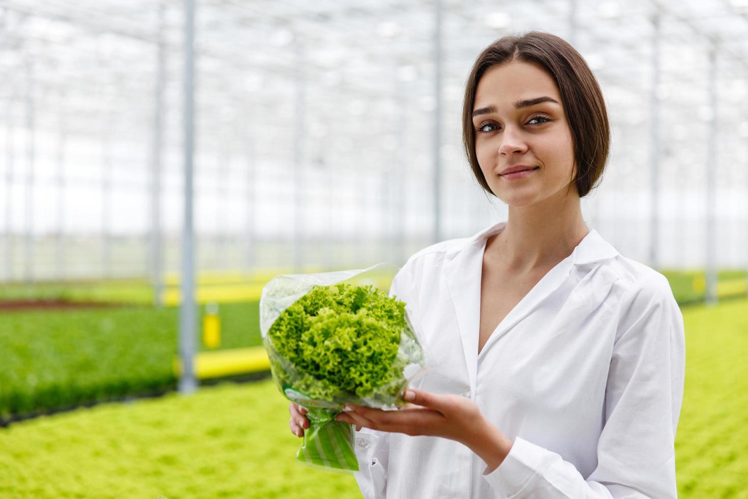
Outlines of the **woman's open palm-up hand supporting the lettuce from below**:
M 408 392 L 412 392 L 414 397 L 408 399 Z M 398 411 L 348 404 L 352 411 L 338 414 L 335 420 L 383 432 L 449 438 L 473 450 L 489 436 L 486 433 L 494 432 L 495 436 L 498 432 L 471 399 L 412 388 L 408 388 L 404 398 L 410 403 Z

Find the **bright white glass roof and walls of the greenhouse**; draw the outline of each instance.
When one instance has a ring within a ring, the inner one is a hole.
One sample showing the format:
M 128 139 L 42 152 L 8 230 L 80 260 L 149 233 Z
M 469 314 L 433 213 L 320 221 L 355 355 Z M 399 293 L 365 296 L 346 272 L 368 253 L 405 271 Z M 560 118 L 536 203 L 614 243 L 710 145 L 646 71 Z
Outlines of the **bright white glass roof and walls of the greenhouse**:
M 435 224 L 446 239 L 506 218 L 465 159 L 462 94 L 488 43 L 537 29 L 579 50 L 607 102 L 612 149 L 583 198 L 588 225 L 647 260 L 656 209 L 660 263 L 702 265 L 712 176 L 717 260 L 745 265 L 746 0 L 200 0 L 195 19 L 198 237 L 399 238 L 397 254 L 346 263 L 402 263 Z M 181 1 L 0 0 L 5 239 L 147 236 L 155 151 L 162 230 L 179 235 L 183 25 Z

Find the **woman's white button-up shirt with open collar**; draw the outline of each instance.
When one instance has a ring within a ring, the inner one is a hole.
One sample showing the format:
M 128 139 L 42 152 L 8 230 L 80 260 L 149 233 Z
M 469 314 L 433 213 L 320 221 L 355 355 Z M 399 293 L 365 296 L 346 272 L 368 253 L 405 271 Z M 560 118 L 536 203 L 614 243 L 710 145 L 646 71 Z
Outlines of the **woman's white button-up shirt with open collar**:
M 590 230 L 478 355 L 483 251 L 504 227 L 417 252 L 390 296 L 426 352 L 413 388 L 470 397 L 512 450 L 485 474 L 456 441 L 362 428 L 364 498 L 677 497 L 685 338 L 668 281 Z

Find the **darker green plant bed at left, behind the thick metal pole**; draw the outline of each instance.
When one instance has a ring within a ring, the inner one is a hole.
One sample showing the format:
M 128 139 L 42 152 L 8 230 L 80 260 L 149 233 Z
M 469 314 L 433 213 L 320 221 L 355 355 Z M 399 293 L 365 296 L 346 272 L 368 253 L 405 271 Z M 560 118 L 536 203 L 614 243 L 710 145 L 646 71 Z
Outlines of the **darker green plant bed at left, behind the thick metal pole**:
M 176 307 L 0 314 L 0 420 L 173 388 L 178 314 Z M 257 302 L 221 304 L 220 348 L 261 345 L 258 314 Z

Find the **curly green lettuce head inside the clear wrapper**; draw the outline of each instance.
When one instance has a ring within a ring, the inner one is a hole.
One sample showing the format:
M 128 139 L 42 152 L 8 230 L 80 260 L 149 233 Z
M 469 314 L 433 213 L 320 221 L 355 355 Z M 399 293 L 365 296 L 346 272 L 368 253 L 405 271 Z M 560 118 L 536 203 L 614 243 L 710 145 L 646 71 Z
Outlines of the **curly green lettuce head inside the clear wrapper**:
M 315 286 L 286 308 L 266 348 L 281 387 L 334 403 L 393 403 L 407 384 L 405 366 L 423 360 L 403 301 L 345 283 Z

